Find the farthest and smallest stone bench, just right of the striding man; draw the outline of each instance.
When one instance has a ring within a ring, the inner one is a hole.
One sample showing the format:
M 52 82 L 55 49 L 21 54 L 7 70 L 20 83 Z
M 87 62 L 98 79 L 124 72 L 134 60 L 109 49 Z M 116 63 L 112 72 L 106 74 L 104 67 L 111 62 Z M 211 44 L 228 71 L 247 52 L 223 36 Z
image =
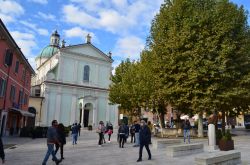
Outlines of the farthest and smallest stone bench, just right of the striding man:
M 153 148 L 161 149 L 166 148 L 170 145 L 181 144 L 181 140 L 178 139 L 154 139 L 153 140 Z

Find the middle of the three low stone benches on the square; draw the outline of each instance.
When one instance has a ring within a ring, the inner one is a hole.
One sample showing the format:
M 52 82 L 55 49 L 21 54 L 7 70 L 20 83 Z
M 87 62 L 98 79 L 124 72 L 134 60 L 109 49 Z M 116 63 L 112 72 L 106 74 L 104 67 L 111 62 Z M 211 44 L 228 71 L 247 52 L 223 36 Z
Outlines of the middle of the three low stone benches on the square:
M 167 147 L 167 156 L 178 157 L 201 153 L 204 151 L 202 143 L 181 144 Z

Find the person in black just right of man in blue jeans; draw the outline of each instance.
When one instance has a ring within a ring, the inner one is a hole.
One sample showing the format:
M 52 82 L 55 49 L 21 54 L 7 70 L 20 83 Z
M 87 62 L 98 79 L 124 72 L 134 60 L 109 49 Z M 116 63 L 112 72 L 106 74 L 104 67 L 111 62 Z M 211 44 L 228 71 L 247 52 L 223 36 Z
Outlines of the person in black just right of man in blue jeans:
M 65 135 L 65 128 L 64 128 L 64 125 L 62 123 L 58 124 L 57 134 L 58 134 L 58 140 L 60 143 L 59 144 L 56 143 L 55 154 L 57 153 L 58 149 L 60 148 L 61 159 L 64 159 L 63 146 L 66 144 L 66 135 Z

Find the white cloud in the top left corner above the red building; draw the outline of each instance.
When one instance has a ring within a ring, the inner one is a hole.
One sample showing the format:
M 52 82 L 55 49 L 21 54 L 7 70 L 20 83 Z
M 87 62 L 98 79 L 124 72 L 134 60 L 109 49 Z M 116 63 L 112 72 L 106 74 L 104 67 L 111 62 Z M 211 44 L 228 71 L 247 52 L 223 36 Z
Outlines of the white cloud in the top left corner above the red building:
M 0 18 L 5 23 L 15 21 L 15 18 L 24 14 L 23 7 L 15 1 L 0 0 Z

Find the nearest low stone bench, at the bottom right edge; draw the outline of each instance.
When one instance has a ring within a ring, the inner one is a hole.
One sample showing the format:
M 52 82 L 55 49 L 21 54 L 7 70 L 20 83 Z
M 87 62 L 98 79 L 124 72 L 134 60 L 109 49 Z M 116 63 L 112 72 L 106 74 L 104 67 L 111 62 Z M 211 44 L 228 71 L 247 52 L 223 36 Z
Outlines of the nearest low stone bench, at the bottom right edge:
M 195 158 L 196 165 L 236 165 L 241 164 L 239 151 L 219 151 Z

